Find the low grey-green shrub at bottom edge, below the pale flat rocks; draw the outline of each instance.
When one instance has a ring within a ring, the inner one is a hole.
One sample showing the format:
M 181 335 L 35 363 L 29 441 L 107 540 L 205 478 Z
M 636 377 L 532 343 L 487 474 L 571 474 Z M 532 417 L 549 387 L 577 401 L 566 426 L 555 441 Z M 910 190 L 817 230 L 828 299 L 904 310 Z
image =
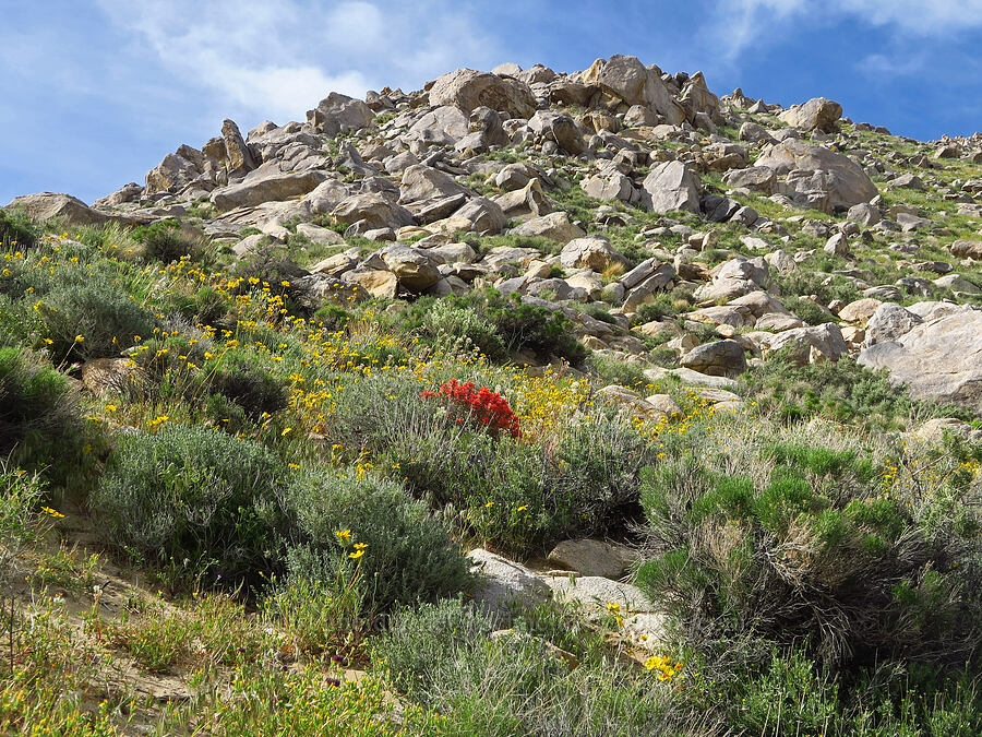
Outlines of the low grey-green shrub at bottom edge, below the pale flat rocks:
M 436 709 L 444 734 L 712 734 L 705 710 L 686 712 L 650 674 L 611 655 L 571 673 L 522 619 L 514 628 L 490 638 L 489 618 L 459 601 L 404 609 L 372 658 L 410 700 Z

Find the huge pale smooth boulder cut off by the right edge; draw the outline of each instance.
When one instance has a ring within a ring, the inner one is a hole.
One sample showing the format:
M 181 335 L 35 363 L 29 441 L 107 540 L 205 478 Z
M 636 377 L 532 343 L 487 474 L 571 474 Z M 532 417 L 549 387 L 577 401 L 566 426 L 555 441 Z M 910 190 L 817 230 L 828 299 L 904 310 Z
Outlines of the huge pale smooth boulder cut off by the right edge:
M 864 349 L 858 360 L 887 369 L 914 399 L 954 402 L 982 416 L 982 310 L 929 320 Z

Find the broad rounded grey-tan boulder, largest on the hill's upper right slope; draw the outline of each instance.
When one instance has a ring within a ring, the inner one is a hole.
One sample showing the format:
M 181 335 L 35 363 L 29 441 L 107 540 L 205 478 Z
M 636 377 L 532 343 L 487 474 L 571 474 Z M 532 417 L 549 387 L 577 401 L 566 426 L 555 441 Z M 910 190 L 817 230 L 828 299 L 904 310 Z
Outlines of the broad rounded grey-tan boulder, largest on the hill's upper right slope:
M 876 197 L 876 185 L 848 156 L 825 146 L 789 139 L 767 150 L 756 162 L 785 181 L 775 191 L 798 204 L 823 212 L 849 210 Z

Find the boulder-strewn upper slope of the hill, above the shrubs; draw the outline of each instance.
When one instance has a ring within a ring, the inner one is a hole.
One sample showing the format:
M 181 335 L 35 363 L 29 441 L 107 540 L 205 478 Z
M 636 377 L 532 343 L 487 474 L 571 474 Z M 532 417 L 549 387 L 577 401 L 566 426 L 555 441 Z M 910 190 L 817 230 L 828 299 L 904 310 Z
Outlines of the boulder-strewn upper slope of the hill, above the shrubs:
M 244 138 L 226 120 L 92 207 L 49 193 L 9 206 L 177 218 L 236 257 L 328 254 L 304 264 L 322 294 L 494 286 L 563 311 L 595 352 L 650 362 L 654 337 L 703 375 L 786 347 L 858 356 L 982 412 L 982 135 L 922 143 L 841 114 L 718 97 L 700 73 L 633 57 L 462 69 L 408 94 L 332 93 L 306 122 Z M 662 293 L 661 317 L 683 321 L 646 319 Z

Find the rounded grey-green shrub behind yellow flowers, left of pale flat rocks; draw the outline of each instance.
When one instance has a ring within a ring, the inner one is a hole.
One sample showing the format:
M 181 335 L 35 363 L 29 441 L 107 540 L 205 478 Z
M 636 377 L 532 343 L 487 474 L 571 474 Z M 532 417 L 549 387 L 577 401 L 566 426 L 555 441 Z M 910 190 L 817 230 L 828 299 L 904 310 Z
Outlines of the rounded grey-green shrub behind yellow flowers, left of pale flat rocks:
M 336 581 L 355 555 L 358 586 L 374 610 L 432 602 L 470 586 L 467 560 L 446 527 L 395 482 L 356 468 L 311 472 L 295 479 L 287 504 L 297 525 L 288 554 L 291 576 Z

